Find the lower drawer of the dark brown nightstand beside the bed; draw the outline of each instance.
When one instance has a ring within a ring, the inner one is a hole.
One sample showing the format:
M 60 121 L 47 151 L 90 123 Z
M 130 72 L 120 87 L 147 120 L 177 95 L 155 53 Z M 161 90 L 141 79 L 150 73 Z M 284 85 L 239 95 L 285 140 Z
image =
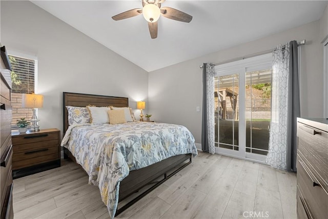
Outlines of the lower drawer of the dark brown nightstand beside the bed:
M 26 160 L 26 159 L 31 159 L 33 157 L 46 156 L 46 155 L 49 155 L 49 154 L 55 154 L 53 156 L 53 158 L 54 159 L 59 159 L 59 157 L 58 157 L 58 147 L 54 146 L 54 147 L 49 147 L 49 148 L 27 150 L 25 152 L 16 153 L 13 156 L 12 161 L 13 162 L 23 161 L 23 160 Z

